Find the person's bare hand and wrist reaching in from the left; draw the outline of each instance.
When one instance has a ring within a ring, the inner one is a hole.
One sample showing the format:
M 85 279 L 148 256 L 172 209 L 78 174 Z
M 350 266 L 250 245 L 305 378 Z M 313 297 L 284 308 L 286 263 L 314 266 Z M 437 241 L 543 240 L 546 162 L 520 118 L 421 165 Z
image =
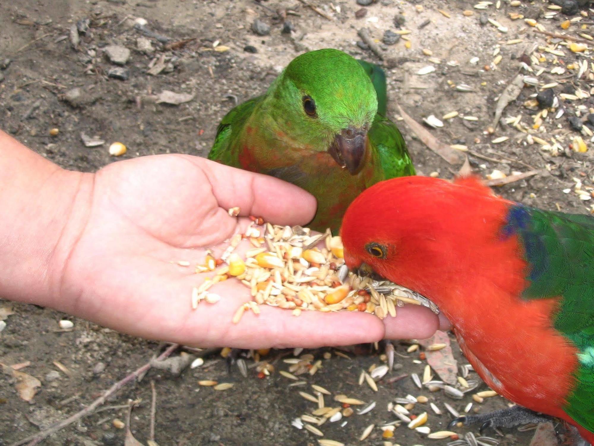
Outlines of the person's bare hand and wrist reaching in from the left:
M 179 260 L 203 263 L 208 248 L 220 255 L 249 215 L 282 225 L 311 220 L 314 197 L 277 178 L 189 155 L 67 171 L 0 131 L 0 203 L 0 296 L 130 335 L 200 347 L 320 347 L 427 338 L 440 328 L 419 306 L 384 321 L 261 306 L 233 324 L 251 299 L 234 279 L 216 285 L 218 303 L 192 310 L 192 287 L 208 274 Z M 234 206 L 238 217 L 229 216 Z

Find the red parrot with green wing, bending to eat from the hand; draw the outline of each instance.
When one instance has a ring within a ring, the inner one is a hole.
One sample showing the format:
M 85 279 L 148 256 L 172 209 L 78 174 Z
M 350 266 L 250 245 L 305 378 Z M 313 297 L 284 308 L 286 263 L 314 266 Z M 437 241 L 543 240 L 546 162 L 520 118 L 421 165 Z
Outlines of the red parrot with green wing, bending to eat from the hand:
M 594 217 L 505 200 L 475 177 L 402 177 L 360 194 L 341 235 L 350 269 L 437 304 L 486 384 L 523 406 L 460 420 L 546 414 L 594 445 Z

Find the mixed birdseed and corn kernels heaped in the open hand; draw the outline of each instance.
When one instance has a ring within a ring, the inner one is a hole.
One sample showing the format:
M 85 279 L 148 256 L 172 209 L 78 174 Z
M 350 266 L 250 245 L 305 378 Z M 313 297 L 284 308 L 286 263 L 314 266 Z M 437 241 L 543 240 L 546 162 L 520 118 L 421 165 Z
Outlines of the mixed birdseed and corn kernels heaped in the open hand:
M 229 214 L 237 215 L 236 208 L 229 209 Z M 253 246 L 245 260 L 233 253 L 244 238 Z M 217 265 L 222 266 L 215 271 Z M 233 323 L 238 323 L 246 310 L 260 313 L 260 305 L 292 310 L 295 316 L 303 310 L 359 311 L 384 319 L 396 316 L 396 308 L 406 303 L 438 313 L 431 301 L 407 288 L 349 272 L 342 240 L 332 237 L 330 230 L 312 234 L 309 228 L 271 225 L 254 217 L 244 235 L 236 234 L 230 240 L 220 260 L 210 253 L 206 256 L 205 265 L 196 268 L 196 272 L 204 271 L 215 271 L 215 275 L 192 290 L 194 309 L 201 300 L 219 301 L 220 296 L 209 290 L 229 276 L 251 291 L 252 300 L 237 309 Z

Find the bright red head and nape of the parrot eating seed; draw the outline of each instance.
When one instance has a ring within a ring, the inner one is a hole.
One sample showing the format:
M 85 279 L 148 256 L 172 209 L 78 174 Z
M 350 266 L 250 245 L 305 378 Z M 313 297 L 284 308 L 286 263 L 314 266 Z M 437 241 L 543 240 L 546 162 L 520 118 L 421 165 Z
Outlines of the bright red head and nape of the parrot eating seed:
M 441 307 L 445 290 L 464 289 L 472 271 L 483 274 L 481 265 L 501 255 L 497 234 L 507 203 L 475 177 L 454 183 L 416 176 L 381 181 L 345 213 L 340 235 L 346 265 Z

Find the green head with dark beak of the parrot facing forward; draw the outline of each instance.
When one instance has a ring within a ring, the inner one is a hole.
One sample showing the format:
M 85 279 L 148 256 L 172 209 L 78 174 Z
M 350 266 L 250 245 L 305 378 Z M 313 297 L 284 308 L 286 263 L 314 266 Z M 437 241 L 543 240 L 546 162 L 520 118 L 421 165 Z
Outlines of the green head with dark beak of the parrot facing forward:
M 293 59 L 270 89 L 271 112 L 283 134 L 327 152 L 352 175 L 361 171 L 378 101 L 356 59 L 337 49 L 307 52 Z

